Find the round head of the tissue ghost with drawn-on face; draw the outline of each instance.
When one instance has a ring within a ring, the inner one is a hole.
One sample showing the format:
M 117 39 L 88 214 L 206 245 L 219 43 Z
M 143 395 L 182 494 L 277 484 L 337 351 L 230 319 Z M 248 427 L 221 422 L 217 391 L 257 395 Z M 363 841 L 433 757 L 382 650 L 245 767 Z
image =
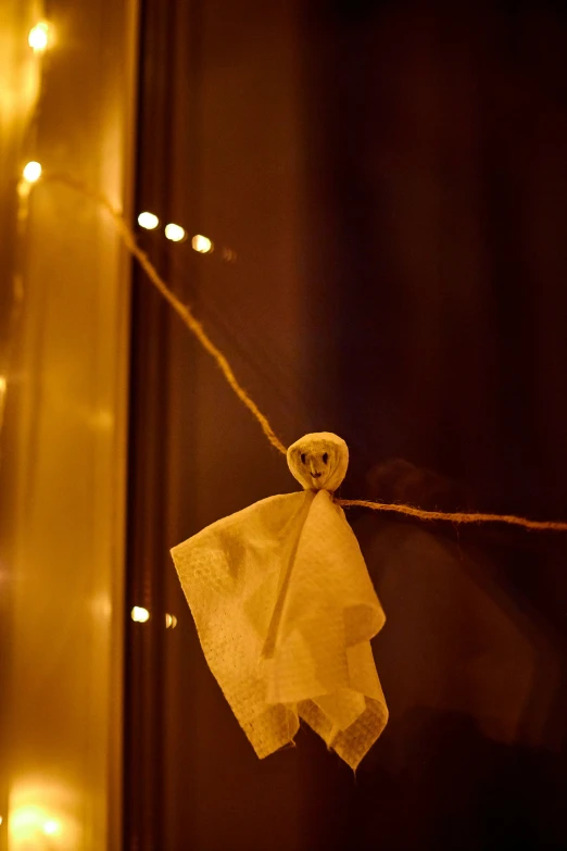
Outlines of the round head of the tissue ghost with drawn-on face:
M 330 431 L 316 431 L 288 449 L 291 474 L 306 490 L 337 490 L 346 475 L 349 448 Z

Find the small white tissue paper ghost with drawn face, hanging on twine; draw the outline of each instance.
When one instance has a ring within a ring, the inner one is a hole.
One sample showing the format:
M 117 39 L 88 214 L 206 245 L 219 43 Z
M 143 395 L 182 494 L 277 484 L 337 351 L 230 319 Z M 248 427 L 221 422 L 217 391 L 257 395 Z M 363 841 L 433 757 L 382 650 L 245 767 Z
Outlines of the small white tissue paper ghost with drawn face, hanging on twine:
M 322 431 L 287 453 L 304 490 L 269 497 L 172 550 L 206 661 L 256 754 L 303 718 L 352 768 L 388 710 L 370 638 L 385 614 L 333 501 L 346 443 Z

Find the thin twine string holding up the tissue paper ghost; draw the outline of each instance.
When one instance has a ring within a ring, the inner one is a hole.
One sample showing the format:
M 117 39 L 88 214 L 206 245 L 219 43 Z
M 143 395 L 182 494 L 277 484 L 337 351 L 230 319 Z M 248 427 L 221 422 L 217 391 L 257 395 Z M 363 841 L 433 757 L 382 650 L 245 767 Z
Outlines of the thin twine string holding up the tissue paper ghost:
M 223 351 L 212 341 L 203 326 L 196 318 L 190 308 L 184 304 L 177 296 L 169 289 L 165 280 L 161 277 L 155 266 L 151 263 L 148 254 L 140 249 L 136 241 L 136 234 L 133 228 L 127 224 L 122 211 L 114 207 L 111 201 L 102 193 L 93 191 L 83 183 L 75 180 L 66 174 L 51 173 L 46 174 L 42 177 L 42 182 L 56 182 L 64 184 L 75 191 L 83 195 L 85 198 L 89 198 L 94 203 L 104 208 L 111 215 L 116 231 L 121 237 L 124 246 L 129 253 L 136 258 L 140 266 L 143 268 L 148 278 L 153 284 L 155 289 L 163 296 L 173 310 L 177 313 L 181 322 L 187 326 L 191 334 L 201 343 L 203 349 L 215 360 L 218 368 L 223 373 L 227 384 L 236 396 L 240 399 L 242 404 L 248 408 L 252 416 L 255 417 L 260 427 L 262 428 L 265 437 L 270 445 L 281 452 L 287 454 L 287 449 L 284 442 L 274 431 L 267 416 L 262 413 L 257 404 L 250 397 L 247 390 L 237 379 L 232 367 L 230 366 L 226 355 Z M 338 499 L 337 502 L 345 508 L 358 505 L 365 509 L 371 509 L 373 511 L 393 512 L 395 514 L 404 514 L 410 517 L 415 517 L 421 521 L 446 521 L 454 524 L 480 524 L 480 523 L 503 523 L 511 526 L 520 526 L 524 529 L 538 530 L 538 531 L 567 531 L 567 522 L 563 521 L 533 521 L 528 517 L 519 517 L 514 514 L 483 514 L 483 513 L 464 513 L 464 512 L 445 512 L 445 511 L 425 511 L 424 509 L 415 508 L 414 505 L 405 505 L 388 502 L 371 502 L 370 500 L 362 499 Z

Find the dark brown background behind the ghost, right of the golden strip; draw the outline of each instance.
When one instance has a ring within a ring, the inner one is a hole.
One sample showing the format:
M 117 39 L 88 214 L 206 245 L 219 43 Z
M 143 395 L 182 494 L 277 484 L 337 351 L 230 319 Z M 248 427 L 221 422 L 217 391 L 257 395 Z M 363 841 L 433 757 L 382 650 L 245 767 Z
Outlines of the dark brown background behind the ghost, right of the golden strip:
M 138 207 L 215 250 L 140 239 L 282 440 L 341 435 L 343 497 L 565 518 L 565 7 L 143 5 Z M 308 730 L 260 762 L 168 549 L 294 483 L 141 274 L 133 317 L 125 846 L 567 847 L 565 536 L 350 511 L 389 725 L 356 777 Z

